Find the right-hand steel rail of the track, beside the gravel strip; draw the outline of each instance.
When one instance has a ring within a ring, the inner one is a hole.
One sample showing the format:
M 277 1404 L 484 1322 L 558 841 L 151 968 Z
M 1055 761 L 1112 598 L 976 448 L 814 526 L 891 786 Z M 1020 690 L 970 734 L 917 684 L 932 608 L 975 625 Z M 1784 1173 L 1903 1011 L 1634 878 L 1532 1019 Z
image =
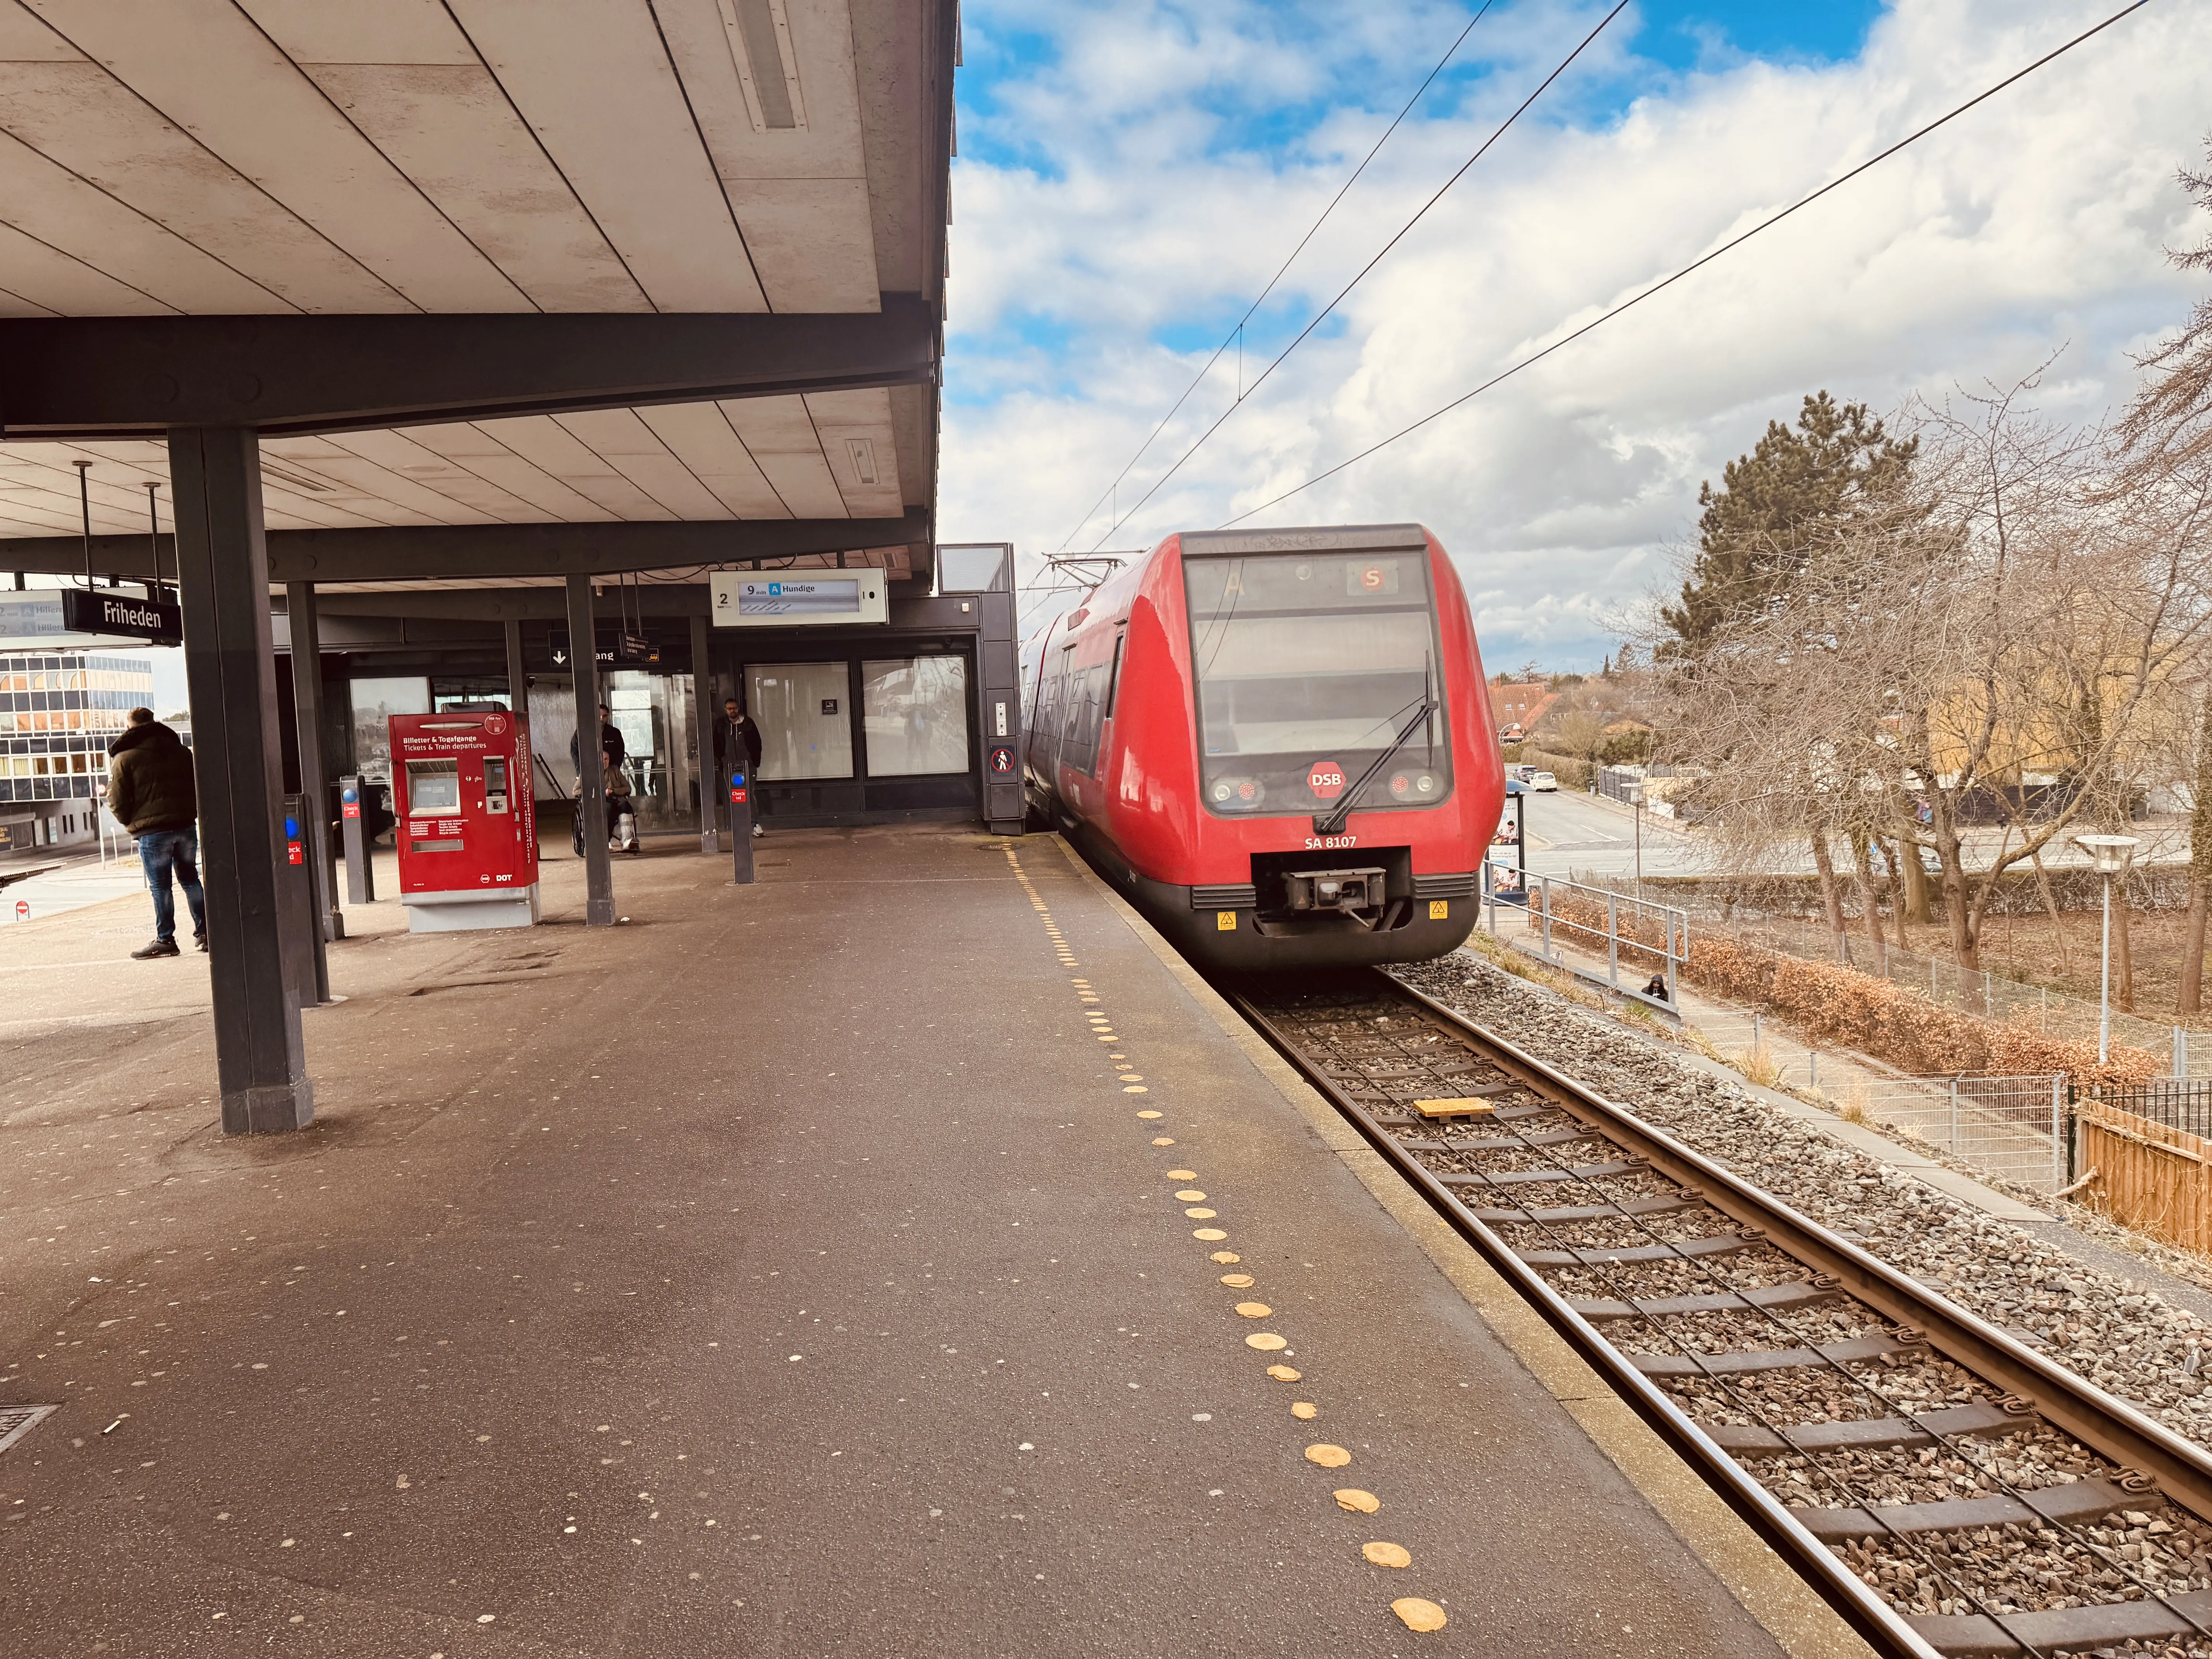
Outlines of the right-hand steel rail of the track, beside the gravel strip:
M 1546 1062 L 1528 1055 L 1498 1033 L 1462 1013 L 1422 995 L 1409 984 L 1389 980 L 1391 993 L 1425 1013 L 1464 1031 L 1489 1046 L 1506 1071 L 1522 1082 L 1566 1095 L 1575 1108 L 1601 1119 L 1597 1126 L 1617 1146 L 1644 1157 L 1655 1170 L 1686 1188 L 1730 1219 L 1763 1228 L 1767 1243 L 1785 1256 L 1803 1261 L 1814 1272 L 1834 1274 L 1840 1287 L 1878 1314 L 1922 1332 L 1931 1347 L 1958 1360 L 1964 1369 L 2033 1402 L 2046 1422 L 2064 1429 L 2081 1444 L 2124 1469 L 2139 1469 L 2157 1480 L 2159 1491 L 2201 1520 L 2212 1520 L 2212 1455 L 2183 1440 L 2163 1422 L 2148 1418 L 2126 1400 L 2095 1383 L 2053 1365 L 2042 1354 L 2006 1336 L 2002 1329 L 1966 1312 L 1958 1303 L 1924 1290 L 1849 1239 L 1798 1214 L 1787 1203 L 1743 1177 L 1694 1152 L 1663 1130 L 1652 1128 L 1626 1106 L 1577 1084 Z

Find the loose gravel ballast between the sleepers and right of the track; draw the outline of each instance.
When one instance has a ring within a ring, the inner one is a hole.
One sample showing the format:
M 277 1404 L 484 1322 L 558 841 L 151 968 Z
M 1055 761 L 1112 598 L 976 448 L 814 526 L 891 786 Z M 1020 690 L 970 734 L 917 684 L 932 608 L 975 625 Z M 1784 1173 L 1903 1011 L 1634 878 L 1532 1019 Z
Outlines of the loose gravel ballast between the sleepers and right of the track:
M 1814 1221 L 1849 1234 L 1922 1285 L 2042 1347 L 2059 1365 L 2135 1402 L 2177 1433 L 2197 1442 L 2212 1438 L 2212 1398 L 2205 1398 L 2201 1376 L 2212 1327 L 2194 1312 L 1823 1135 L 1816 1124 L 1752 1088 L 1712 1075 L 1703 1062 L 1692 1062 L 1661 1035 L 1639 1033 L 1575 1006 L 1473 951 L 1396 973 Z M 1482 1152 L 1469 1161 L 1495 1168 L 1495 1157 Z M 1657 1239 L 1694 1234 L 1699 1228 L 1723 1232 L 1719 1217 L 1703 1208 L 1652 1217 L 1641 1225 L 1579 1221 L 1575 1228 L 1553 1230 L 1509 1221 L 1500 1232 L 1520 1250 L 1557 1254 L 1562 1245 L 1632 1245 L 1639 1230 L 1641 1237 Z M 2093 1252 L 2099 1248 L 2093 1245 Z M 1613 1298 L 1672 1296 L 1723 1283 L 1741 1290 L 1752 1283 L 1790 1283 L 1803 1274 L 1796 1263 L 1756 1243 L 1705 1254 L 1697 1263 L 1548 1263 L 1542 1272 L 1568 1296 Z M 1730 1310 L 1666 1321 L 1608 1318 L 1606 1325 L 1608 1338 L 1626 1352 L 1657 1354 L 1832 1343 L 1865 1329 L 1871 1329 L 1867 1310 L 1849 1303 L 1798 1307 L 1772 1323 Z M 1997 1402 L 1984 1383 L 1924 1347 L 1891 1349 L 1878 1354 L 1876 1363 L 1854 1360 L 1847 1369 L 1796 1367 L 1725 1380 L 1670 1374 L 1666 1391 L 1692 1416 L 1714 1425 L 1761 1418 L 1767 1425 L 1849 1422 L 1933 1405 Z M 2002 1489 L 2028 1493 L 2124 1475 L 2037 1418 L 1951 1447 L 1838 1447 L 1752 1455 L 1745 1467 L 1783 1502 L 1816 1511 L 1929 1504 L 1984 1498 Z M 1989 1610 L 2002 1617 L 2212 1588 L 2212 1526 L 2157 1498 L 2150 1509 L 2115 1513 L 2104 1524 L 2051 1528 L 1995 1522 L 1911 1540 L 1840 1542 L 1838 1553 L 1909 1615 Z M 2192 1635 L 2062 1652 L 2208 1659 L 2212 1641 Z

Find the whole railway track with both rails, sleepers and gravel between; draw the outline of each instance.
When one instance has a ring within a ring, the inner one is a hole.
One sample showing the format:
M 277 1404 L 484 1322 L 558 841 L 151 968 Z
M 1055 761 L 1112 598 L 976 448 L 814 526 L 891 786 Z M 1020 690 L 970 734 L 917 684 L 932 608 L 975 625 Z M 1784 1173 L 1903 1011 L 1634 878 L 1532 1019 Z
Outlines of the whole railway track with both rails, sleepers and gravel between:
M 1385 973 L 1223 989 L 1876 1652 L 2212 1657 L 2201 1447 Z

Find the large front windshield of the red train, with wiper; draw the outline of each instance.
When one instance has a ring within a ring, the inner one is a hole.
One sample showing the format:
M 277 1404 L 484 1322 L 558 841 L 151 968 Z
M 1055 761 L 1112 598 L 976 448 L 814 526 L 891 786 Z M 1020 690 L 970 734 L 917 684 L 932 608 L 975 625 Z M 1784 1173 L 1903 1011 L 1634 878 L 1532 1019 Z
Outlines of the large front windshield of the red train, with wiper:
M 1425 549 L 1188 557 L 1183 593 L 1208 810 L 1321 812 L 1409 726 L 1358 810 L 1451 794 Z

